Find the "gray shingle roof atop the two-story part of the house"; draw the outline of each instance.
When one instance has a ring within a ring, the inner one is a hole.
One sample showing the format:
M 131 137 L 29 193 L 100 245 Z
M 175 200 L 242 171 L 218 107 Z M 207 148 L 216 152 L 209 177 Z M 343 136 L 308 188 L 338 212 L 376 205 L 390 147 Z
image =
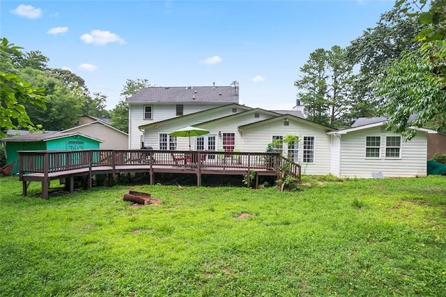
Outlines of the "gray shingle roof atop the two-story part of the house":
M 233 86 L 151 86 L 139 90 L 128 103 L 238 103 Z

